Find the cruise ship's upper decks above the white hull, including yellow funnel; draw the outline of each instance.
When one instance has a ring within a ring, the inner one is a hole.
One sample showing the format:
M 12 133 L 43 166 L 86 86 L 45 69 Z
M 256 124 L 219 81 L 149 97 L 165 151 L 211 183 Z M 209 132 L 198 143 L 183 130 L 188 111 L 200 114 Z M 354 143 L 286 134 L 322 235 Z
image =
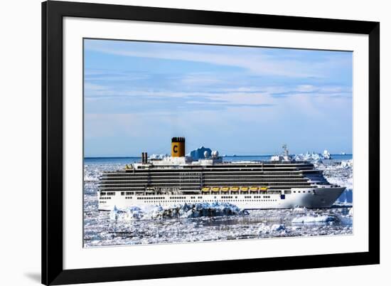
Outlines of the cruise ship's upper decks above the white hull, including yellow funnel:
M 247 191 L 260 192 L 327 184 L 322 171 L 314 169 L 314 164 L 292 160 L 287 150 L 282 156 L 272 157 L 271 161 L 223 161 L 217 151 L 211 154 L 205 151 L 204 156 L 195 159 L 183 155 L 181 144 L 184 139 L 174 141 L 173 155 L 178 149 L 182 156 L 153 159 L 143 153 L 139 163 L 104 172 L 99 189 L 134 194 L 195 194 L 205 189 L 245 192 L 247 188 Z

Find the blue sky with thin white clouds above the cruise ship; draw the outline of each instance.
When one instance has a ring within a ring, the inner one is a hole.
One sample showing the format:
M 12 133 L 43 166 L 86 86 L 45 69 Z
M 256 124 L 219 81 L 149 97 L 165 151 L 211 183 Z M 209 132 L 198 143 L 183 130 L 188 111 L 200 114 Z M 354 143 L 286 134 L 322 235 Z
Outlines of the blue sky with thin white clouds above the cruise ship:
M 85 157 L 352 152 L 353 53 L 85 40 Z

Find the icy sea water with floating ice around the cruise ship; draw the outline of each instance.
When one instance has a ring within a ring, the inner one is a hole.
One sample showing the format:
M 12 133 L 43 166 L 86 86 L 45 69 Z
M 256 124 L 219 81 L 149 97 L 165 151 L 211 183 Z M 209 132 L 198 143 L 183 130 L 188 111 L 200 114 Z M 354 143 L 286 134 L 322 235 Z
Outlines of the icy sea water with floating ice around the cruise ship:
M 240 211 L 235 206 L 200 205 L 195 216 L 189 207 L 178 206 L 175 216 L 159 206 L 132 207 L 127 210 L 98 211 L 97 184 L 102 171 L 123 169 L 140 157 L 85 158 L 84 243 L 137 245 L 186 243 L 212 240 L 284 238 L 313 235 L 353 234 L 353 161 L 351 155 L 332 155 L 333 159 L 314 160 L 329 182 L 346 186 L 346 191 L 327 209 L 275 209 Z M 224 161 L 269 160 L 270 156 L 232 156 Z M 205 212 L 203 208 L 219 209 Z M 219 215 L 216 216 L 215 214 Z

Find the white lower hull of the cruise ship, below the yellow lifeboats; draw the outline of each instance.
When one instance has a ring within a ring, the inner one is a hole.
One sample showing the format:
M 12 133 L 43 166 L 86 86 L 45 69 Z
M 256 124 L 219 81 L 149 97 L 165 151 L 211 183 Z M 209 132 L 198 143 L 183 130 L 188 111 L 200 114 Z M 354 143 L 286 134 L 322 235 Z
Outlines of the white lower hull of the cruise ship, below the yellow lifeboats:
M 99 210 L 111 211 L 114 206 L 121 209 L 129 206 L 154 205 L 170 208 L 185 203 L 232 203 L 242 209 L 268 209 L 268 208 L 294 208 L 296 206 L 306 208 L 329 208 L 336 199 L 341 196 L 345 187 L 322 186 L 309 189 L 291 189 L 288 194 L 192 194 L 192 195 L 149 195 L 149 196 L 125 196 L 121 192 L 113 192 L 112 195 L 100 195 Z

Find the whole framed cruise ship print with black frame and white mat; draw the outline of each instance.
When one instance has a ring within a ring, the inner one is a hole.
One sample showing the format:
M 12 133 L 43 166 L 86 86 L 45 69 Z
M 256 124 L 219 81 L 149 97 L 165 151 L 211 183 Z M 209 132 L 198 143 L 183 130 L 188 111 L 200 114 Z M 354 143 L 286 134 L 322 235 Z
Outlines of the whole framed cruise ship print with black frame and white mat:
M 42 28 L 43 284 L 379 263 L 380 23 L 48 1 Z

